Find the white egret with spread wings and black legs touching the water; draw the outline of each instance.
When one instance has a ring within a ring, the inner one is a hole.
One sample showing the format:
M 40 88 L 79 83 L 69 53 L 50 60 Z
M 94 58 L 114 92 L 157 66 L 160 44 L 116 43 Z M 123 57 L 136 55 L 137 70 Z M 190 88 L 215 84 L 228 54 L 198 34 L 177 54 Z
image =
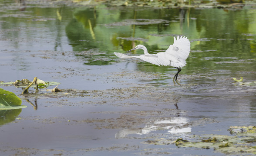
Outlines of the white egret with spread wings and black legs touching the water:
M 144 50 L 144 55 L 139 56 L 129 56 L 119 52 L 114 52 L 119 58 L 140 58 L 146 62 L 152 63 L 154 65 L 171 65 L 178 69 L 174 78 L 177 82 L 178 74 L 181 68 L 186 65 L 186 58 L 189 56 L 190 52 L 190 42 L 187 37 L 177 36 L 177 40 L 174 37 L 173 45 L 170 45 L 165 52 L 158 52 L 157 54 L 149 54 L 148 50 L 143 45 L 138 45 L 131 50 L 142 49 Z M 131 50 L 127 51 L 130 52 Z

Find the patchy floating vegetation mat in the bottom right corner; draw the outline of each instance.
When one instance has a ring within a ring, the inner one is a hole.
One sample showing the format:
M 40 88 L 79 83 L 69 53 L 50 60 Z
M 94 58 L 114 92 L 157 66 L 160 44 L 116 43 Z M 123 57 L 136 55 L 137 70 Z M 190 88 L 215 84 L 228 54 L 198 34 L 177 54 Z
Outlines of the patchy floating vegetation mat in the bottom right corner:
M 170 140 L 161 138 L 159 140 L 147 140 L 143 143 L 154 145 L 175 144 L 178 147 L 194 147 L 202 149 L 214 149 L 216 152 L 225 153 L 227 155 L 239 155 L 243 153 L 248 156 L 256 154 L 256 127 L 230 127 L 228 129 L 234 136 L 202 134 L 193 135 L 189 139 Z M 196 140 L 196 141 L 190 141 Z

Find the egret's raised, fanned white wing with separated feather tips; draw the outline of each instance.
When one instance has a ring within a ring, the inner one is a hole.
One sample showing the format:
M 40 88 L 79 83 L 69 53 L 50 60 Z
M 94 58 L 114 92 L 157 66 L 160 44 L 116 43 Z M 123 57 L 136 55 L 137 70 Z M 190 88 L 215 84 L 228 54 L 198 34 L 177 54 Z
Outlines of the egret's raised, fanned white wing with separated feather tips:
M 185 60 L 188 58 L 190 52 L 190 42 L 187 37 L 177 36 L 177 40 L 174 37 L 174 42 L 169 48 L 166 50 L 166 53 L 174 56 L 178 59 Z

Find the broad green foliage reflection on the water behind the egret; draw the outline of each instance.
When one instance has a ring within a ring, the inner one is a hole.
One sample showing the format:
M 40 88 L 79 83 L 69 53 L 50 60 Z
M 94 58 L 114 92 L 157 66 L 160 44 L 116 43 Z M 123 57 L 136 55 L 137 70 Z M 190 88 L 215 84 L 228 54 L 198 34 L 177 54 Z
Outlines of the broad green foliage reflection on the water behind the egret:
M 77 9 L 74 19 L 66 27 L 66 33 L 74 51 L 105 52 L 100 57 L 78 55 L 83 57 L 86 65 L 109 64 L 115 58 L 113 52 L 128 51 L 138 44 L 145 45 L 150 53 L 162 52 L 173 43 L 173 36 L 185 35 L 191 40 L 192 52 L 182 74 L 193 74 L 195 71 L 202 73 L 205 68 L 212 71 L 237 71 L 237 68 L 243 67 L 251 71 L 255 65 L 245 66 L 244 63 L 256 51 L 255 16 L 256 13 L 246 9 L 136 10 L 100 6 Z M 161 19 L 169 23 L 108 26 L 111 23 L 124 23 L 127 19 Z M 138 50 L 131 53 L 143 52 Z M 173 70 L 172 67 L 158 67 L 145 62 L 137 65 L 139 70 L 147 72 L 165 73 Z

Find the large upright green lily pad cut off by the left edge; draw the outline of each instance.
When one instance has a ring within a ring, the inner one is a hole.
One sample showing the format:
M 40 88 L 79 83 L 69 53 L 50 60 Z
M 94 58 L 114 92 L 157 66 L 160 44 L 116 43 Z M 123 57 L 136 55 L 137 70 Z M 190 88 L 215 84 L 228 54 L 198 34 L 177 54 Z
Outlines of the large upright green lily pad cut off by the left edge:
M 12 110 L 26 108 L 21 105 L 21 100 L 14 93 L 0 88 L 0 110 Z

